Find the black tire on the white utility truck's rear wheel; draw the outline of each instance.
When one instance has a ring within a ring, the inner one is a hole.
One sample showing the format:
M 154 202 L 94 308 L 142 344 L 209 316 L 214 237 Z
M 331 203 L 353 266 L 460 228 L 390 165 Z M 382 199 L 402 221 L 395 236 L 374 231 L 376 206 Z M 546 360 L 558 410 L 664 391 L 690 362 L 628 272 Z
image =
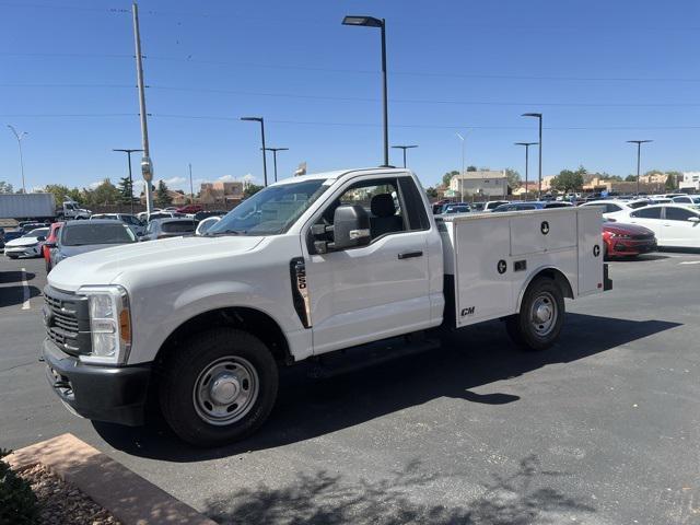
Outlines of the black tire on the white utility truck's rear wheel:
M 550 308 L 552 317 L 538 324 L 534 310 L 537 305 Z M 505 319 L 511 339 L 525 350 L 545 350 L 559 338 L 564 323 L 564 298 L 559 285 L 547 277 L 538 277 L 527 287 L 520 313 Z M 546 329 L 542 329 L 546 328 Z

